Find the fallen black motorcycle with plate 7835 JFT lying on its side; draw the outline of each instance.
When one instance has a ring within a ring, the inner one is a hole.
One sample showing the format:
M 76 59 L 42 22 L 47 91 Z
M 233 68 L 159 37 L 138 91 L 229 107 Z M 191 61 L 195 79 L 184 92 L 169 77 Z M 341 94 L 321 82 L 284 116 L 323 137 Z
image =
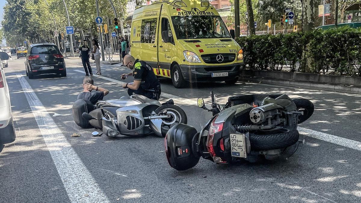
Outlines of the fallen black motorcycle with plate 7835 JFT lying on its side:
M 312 116 L 307 99 L 287 95 L 232 96 L 221 110 L 211 92 L 212 108 L 198 98 L 198 106 L 213 113 L 200 131 L 185 124 L 173 126 L 165 137 L 169 165 L 177 170 L 194 167 L 200 157 L 217 164 L 245 159 L 256 162 L 290 157 L 302 141 L 297 124 Z

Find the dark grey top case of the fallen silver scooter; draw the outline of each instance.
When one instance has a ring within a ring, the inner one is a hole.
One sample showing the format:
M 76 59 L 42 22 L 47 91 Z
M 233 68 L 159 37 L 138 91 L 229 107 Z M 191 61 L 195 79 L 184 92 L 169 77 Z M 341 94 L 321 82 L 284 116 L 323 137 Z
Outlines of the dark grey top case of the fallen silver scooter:
M 94 110 L 94 108 L 95 106 L 92 103 L 87 102 L 84 99 L 78 99 L 77 101 L 75 101 L 73 104 L 73 117 L 75 123 L 82 128 L 90 127 L 89 121 L 85 120 L 82 117 L 82 114 L 84 112 L 89 113 Z

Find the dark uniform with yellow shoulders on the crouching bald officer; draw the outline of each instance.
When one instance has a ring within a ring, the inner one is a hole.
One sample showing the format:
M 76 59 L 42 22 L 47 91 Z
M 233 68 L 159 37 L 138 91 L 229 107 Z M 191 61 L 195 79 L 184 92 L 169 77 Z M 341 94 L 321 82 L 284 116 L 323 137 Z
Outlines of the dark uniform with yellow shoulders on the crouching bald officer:
M 160 82 L 158 81 L 153 69 L 144 61 L 138 59 L 134 62 L 133 69 L 134 80 L 142 81 L 138 90 L 128 89 L 128 94 L 133 93 L 146 96 L 149 99 L 159 100 L 161 94 Z

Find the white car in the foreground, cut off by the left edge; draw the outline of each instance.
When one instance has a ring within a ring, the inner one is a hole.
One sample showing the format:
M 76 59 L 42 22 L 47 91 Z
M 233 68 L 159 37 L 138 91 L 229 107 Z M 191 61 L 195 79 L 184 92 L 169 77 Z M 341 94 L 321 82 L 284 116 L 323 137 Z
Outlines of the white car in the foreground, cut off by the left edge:
M 8 60 L 6 52 L 0 52 L 0 59 Z M 15 130 L 11 114 L 9 87 L 6 83 L 3 64 L 0 64 L 0 144 L 15 141 Z

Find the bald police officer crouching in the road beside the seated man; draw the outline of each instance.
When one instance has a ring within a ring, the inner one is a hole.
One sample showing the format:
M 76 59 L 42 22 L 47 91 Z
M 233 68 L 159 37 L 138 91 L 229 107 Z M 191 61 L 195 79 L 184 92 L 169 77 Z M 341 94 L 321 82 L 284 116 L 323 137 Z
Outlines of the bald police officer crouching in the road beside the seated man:
M 134 76 L 133 84 L 123 83 L 124 88 L 129 88 L 129 96 L 134 93 L 143 95 L 149 99 L 159 100 L 161 94 L 160 83 L 154 74 L 152 67 L 144 61 L 134 59 L 134 57 L 129 54 L 124 56 L 123 64 L 130 70 L 133 70 L 130 73 L 121 75 L 122 79 L 125 79 L 130 75 Z

